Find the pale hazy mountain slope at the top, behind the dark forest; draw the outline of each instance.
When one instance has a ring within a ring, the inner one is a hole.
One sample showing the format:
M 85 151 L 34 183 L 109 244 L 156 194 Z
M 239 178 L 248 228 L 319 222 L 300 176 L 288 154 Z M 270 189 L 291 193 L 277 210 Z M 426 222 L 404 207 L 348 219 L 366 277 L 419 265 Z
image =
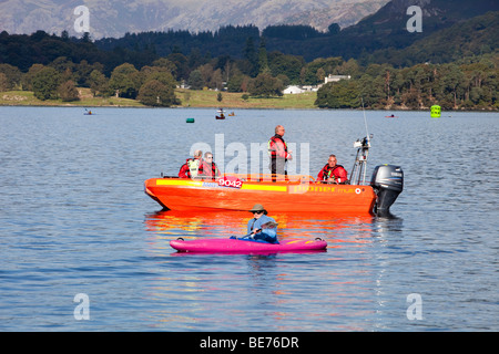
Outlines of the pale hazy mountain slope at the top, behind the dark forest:
M 74 30 L 74 9 L 90 12 L 93 39 L 125 33 L 189 30 L 215 31 L 223 25 L 308 24 L 326 31 L 333 22 L 352 25 L 389 0 L 6 0 L 0 2 L 0 32 L 60 34 Z M 80 34 L 81 35 L 81 34 Z

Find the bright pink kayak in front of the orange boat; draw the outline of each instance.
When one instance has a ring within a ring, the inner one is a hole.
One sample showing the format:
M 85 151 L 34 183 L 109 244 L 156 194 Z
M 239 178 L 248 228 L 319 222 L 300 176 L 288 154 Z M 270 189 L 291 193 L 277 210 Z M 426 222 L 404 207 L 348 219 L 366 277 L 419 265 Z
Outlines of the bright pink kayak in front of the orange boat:
M 289 239 L 281 243 L 267 243 L 247 239 L 197 239 L 184 241 L 182 238 L 170 241 L 170 246 L 179 252 L 197 253 L 257 253 L 257 252 L 301 252 L 319 251 L 327 248 L 327 242 L 317 238 L 315 240 Z

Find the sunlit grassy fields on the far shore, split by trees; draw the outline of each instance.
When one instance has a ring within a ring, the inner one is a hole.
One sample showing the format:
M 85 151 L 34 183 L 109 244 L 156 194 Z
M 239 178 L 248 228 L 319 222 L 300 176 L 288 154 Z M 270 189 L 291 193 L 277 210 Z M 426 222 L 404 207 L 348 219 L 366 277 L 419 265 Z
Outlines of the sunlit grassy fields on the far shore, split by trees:
M 145 107 L 136 100 L 116 97 L 93 97 L 90 88 L 79 88 L 80 101 L 62 102 L 62 100 L 40 101 L 30 91 L 8 91 L 0 92 L 0 105 L 14 106 L 82 106 L 82 107 Z M 222 101 L 217 101 L 216 91 L 196 91 L 179 88 L 175 95 L 181 100 L 177 107 L 224 107 L 224 108 L 316 108 L 314 102 L 317 94 L 308 92 L 303 94 L 291 94 L 282 97 L 243 98 L 243 93 L 222 92 Z

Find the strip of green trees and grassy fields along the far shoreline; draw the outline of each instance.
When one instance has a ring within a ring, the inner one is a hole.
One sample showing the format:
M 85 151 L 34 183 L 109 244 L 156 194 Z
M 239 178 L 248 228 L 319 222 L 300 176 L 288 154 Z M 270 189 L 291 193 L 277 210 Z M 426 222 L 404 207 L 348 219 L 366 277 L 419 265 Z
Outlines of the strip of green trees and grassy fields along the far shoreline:
M 319 59 L 299 70 L 301 82 L 308 83 L 304 79 L 307 73 L 315 72 L 317 77 L 308 85 L 315 90 L 301 94 L 283 94 L 284 83 L 292 82 L 284 74 L 274 76 L 268 69 L 255 77 L 240 74 L 223 81 L 226 72 L 215 69 L 216 60 L 181 82 L 174 77 L 175 64 L 167 59 L 141 70 L 125 63 L 109 77 L 99 71 L 99 64 L 75 64 L 67 58 L 49 65 L 33 64 L 27 73 L 0 64 L 0 105 L 359 108 L 361 97 L 368 110 L 427 110 L 435 104 L 447 111 L 499 108 L 499 58 L 493 55 L 404 69 Z M 323 84 L 327 72 L 346 73 L 349 79 Z

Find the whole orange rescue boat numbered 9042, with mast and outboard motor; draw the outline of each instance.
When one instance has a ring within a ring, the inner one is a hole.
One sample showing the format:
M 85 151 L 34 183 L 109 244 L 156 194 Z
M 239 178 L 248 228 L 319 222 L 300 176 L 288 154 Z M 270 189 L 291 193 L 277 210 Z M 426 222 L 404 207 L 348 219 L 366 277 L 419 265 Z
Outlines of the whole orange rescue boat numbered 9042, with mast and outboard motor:
M 216 179 L 150 178 L 144 183 L 144 191 L 172 210 L 249 210 L 255 204 L 262 204 L 272 214 L 389 214 L 403 191 L 401 168 L 376 166 L 370 185 L 366 185 L 369 138 L 357 140 L 354 146 L 358 150 L 350 174 L 353 185 L 322 184 L 304 175 L 225 174 Z

